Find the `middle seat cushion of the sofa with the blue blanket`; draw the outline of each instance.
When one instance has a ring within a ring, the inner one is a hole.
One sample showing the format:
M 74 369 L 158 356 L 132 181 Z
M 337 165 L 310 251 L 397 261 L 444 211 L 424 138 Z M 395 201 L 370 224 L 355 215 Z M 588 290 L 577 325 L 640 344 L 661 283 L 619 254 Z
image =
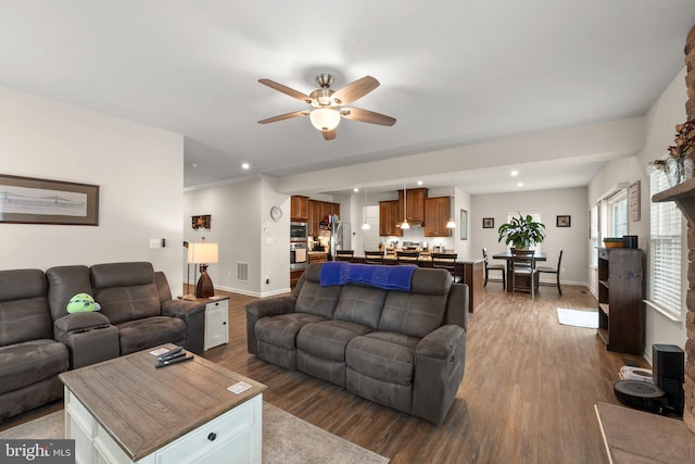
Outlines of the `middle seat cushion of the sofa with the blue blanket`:
M 370 331 L 369 327 L 345 321 L 311 323 L 300 329 L 296 348 L 325 360 L 343 363 L 348 342 Z

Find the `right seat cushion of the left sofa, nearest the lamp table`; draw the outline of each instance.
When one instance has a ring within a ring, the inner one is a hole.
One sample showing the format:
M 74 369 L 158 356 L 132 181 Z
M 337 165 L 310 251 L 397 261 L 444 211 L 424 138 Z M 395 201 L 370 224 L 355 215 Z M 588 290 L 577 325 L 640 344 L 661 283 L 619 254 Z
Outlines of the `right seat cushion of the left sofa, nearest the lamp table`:
M 121 355 L 164 343 L 184 344 L 186 323 L 178 317 L 155 316 L 118 324 Z

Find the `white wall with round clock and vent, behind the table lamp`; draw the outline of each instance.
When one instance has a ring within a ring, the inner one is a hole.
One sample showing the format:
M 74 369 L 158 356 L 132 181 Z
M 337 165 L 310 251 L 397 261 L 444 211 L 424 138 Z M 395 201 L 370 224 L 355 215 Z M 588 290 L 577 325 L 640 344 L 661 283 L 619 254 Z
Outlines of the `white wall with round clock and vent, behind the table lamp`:
M 219 262 L 207 268 L 215 288 L 255 297 L 289 291 L 290 198 L 277 193 L 275 183 L 264 176 L 185 193 L 185 239 L 218 243 Z M 270 218 L 274 205 L 283 211 L 278 222 Z M 192 229 L 191 216 L 201 214 L 212 216 L 210 230 Z M 249 264 L 248 281 L 237 278 L 238 263 Z

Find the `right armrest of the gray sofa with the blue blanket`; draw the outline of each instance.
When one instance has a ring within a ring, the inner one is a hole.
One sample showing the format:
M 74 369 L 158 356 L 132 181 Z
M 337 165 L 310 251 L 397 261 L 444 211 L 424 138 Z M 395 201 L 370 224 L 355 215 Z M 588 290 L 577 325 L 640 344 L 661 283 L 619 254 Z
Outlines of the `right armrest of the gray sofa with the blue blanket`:
M 428 334 L 415 348 L 413 414 L 441 424 L 464 378 L 466 330 L 454 324 Z

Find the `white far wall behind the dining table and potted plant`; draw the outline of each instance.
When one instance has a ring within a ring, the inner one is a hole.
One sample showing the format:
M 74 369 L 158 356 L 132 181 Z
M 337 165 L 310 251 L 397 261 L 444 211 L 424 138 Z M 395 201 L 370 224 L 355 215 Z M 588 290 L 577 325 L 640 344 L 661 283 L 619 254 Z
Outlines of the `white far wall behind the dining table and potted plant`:
M 559 190 L 519 191 L 515 193 L 478 195 L 471 197 L 472 251 L 482 255 L 488 248 L 492 255 L 508 249 L 497 241 L 497 228 L 507 221 L 507 213 L 541 213 L 545 224 L 545 240 L 541 250 L 547 254 L 548 265 L 555 266 L 560 250 L 564 271 L 560 281 L 571 285 L 586 285 L 586 242 L 589 224 L 586 215 L 586 189 L 569 188 Z M 570 215 L 570 227 L 556 227 L 556 216 Z M 482 218 L 493 217 L 494 228 L 482 228 Z

